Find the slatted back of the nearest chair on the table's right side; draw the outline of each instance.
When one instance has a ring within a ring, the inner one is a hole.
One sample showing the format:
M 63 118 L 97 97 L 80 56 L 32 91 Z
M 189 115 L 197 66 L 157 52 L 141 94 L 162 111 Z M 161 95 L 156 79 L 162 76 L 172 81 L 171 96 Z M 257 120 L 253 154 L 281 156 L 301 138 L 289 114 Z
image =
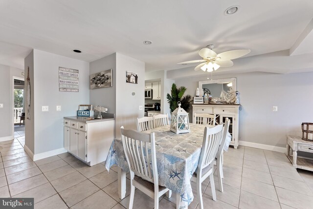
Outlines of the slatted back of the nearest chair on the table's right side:
M 203 143 L 198 168 L 201 170 L 209 165 L 213 166 L 213 161 L 218 148 L 222 142 L 223 125 L 216 125 L 212 128 L 205 127 Z

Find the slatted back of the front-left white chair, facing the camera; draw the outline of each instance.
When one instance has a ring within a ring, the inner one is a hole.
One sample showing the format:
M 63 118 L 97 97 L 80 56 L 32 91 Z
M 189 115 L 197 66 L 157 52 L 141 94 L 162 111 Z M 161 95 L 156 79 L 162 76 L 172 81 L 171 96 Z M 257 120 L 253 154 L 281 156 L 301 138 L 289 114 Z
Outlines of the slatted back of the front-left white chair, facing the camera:
M 122 143 L 125 156 L 129 163 L 130 170 L 135 175 L 150 182 L 158 182 L 156 170 L 155 134 L 140 133 L 136 130 L 124 129 L 121 127 Z M 149 146 L 151 147 L 151 157 L 149 158 Z M 152 160 L 152 167 L 150 161 Z

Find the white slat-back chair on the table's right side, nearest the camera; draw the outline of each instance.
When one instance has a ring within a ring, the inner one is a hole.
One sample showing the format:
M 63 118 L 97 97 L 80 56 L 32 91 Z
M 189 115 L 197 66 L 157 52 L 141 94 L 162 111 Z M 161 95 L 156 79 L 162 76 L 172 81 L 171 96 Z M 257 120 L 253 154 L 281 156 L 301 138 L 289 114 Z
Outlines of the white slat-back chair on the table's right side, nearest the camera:
M 197 183 L 197 196 L 200 209 L 203 209 L 201 183 L 210 176 L 210 184 L 213 200 L 216 201 L 214 185 L 214 160 L 222 142 L 223 125 L 216 125 L 212 128 L 205 127 L 201 154 L 196 172 L 191 177 L 191 181 Z

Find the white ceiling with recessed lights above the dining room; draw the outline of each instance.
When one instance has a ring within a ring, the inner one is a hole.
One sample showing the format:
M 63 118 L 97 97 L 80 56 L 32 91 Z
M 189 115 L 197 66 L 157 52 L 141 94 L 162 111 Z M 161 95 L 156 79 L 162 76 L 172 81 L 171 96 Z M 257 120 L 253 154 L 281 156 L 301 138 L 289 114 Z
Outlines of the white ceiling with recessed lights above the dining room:
M 224 15 L 232 5 L 239 11 Z M 313 0 L 0 0 L 0 64 L 23 68 L 36 48 L 87 62 L 119 52 L 145 62 L 147 72 L 173 70 L 213 43 L 217 53 L 251 49 L 253 58 L 227 70 L 254 69 L 261 55 L 275 62 L 267 55 L 292 48 L 286 72 L 299 55 L 313 71 L 312 11 Z

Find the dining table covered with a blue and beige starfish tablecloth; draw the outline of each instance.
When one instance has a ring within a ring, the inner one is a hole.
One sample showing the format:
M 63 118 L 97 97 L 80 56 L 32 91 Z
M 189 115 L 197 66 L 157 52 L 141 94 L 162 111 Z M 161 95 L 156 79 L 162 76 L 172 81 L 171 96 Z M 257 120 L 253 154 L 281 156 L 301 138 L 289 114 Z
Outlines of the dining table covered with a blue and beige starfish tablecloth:
M 155 132 L 156 165 L 159 185 L 169 188 L 177 195 L 177 209 L 187 209 L 193 201 L 191 177 L 198 167 L 203 141 L 204 127 L 213 125 L 190 124 L 190 133 L 176 134 L 170 125 L 153 128 L 142 133 Z M 231 135 L 228 133 L 224 150 L 228 149 Z M 151 158 L 150 158 L 151 159 Z M 121 139 L 114 139 L 105 167 L 118 166 L 118 195 L 126 195 L 126 173 L 128 163 Z

